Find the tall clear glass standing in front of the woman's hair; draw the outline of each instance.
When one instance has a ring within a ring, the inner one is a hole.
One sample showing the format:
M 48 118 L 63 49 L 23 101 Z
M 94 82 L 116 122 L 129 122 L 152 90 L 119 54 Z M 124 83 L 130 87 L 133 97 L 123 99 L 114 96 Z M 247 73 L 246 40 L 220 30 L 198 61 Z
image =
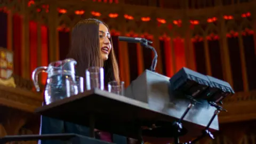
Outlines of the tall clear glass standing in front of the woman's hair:
M 86 90 L 98 88 L 104 90 L 104 70 L 102 67 L 90 67 L 86 69 Z

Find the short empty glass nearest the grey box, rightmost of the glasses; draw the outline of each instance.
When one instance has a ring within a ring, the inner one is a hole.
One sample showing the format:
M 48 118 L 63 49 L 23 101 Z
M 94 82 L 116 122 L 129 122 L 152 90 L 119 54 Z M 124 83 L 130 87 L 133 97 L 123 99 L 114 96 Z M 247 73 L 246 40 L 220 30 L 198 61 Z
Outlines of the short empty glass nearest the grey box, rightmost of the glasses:
M 111 81 L 108 82 L 108 91 L 119 95 L 124 95 L 124 82 Z

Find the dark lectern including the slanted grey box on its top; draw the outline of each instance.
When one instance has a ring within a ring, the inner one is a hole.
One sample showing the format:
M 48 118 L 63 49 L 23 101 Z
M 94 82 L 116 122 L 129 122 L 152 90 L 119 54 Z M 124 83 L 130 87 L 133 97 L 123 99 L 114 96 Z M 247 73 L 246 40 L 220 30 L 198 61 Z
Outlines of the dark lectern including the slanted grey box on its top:
M 126 89 L 125 96 L 94 89 L 40 107 L 36 113 L 89 126 L 91 133 L 98 129 L 135 139 L 142 135 L 149 142 L 156 138 L 170 140 L 174 133 L 172 124 L 181 117 L 189 101 L 171 95 L 169 83 L 169 77 L 146 70 Z M 214 110 L 207 103 L 194 106 L 182 121 L 185 130 L 181 136 L 186 134 L 191 140 L 201 135 Z M 210 130 L 218 129 L 216 117 Z

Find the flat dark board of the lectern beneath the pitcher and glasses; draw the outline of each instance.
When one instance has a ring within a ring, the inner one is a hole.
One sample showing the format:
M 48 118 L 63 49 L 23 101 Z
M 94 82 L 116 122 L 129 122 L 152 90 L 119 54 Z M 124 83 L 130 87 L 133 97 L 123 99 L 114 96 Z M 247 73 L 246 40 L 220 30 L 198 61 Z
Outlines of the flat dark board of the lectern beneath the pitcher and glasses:
M 161 125 L 163 129 L 142 131 L 142 135 L 158 138 L 173 137 L 172 123 L 176 119 L 161 111 L 150 109 L 145 102 L 99 89 L 39 107 L 36 113 L 85 126 L 90 125 L 90 118 L 93 117 L 95 129 L 131 138 L 138 138 L 138 130 L 141 126 L 152 124 Z M 184 124 L 186 123 L 191 125 L 190 122 L 185 121 Z M 194 129 L 193 127 L 191 129 Z M 193 138 L 201 134 L 201 128 L 196 128 L 193 135 L 189 134 L 188 137 Z

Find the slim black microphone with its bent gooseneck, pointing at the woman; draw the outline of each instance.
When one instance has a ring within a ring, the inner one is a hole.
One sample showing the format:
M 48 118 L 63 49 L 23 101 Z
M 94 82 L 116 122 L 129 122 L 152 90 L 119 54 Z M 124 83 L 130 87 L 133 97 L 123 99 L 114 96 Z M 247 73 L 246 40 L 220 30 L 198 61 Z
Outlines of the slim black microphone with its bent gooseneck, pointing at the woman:
M 150 66 L 150 70 L 151 71 L 155 71 L 156 70 L 156 65 L 157 65 L 157 52 L 155 50 L 155 48 L 151 45 L 149 45 L 148 43 L 153 43 L 151 41 L 148 41 L 148 39 L 146 38 L 139 38 L 139 37 L 125 37 L 125 36 L 118 36 L 119 41 L 124 41 L 124 42 L 128 42 L 128 43 L 140 43 L 141 46 L 146 47 L 148 49 L 151 49 L 154 54 L 155 57 L 151 63 Z

